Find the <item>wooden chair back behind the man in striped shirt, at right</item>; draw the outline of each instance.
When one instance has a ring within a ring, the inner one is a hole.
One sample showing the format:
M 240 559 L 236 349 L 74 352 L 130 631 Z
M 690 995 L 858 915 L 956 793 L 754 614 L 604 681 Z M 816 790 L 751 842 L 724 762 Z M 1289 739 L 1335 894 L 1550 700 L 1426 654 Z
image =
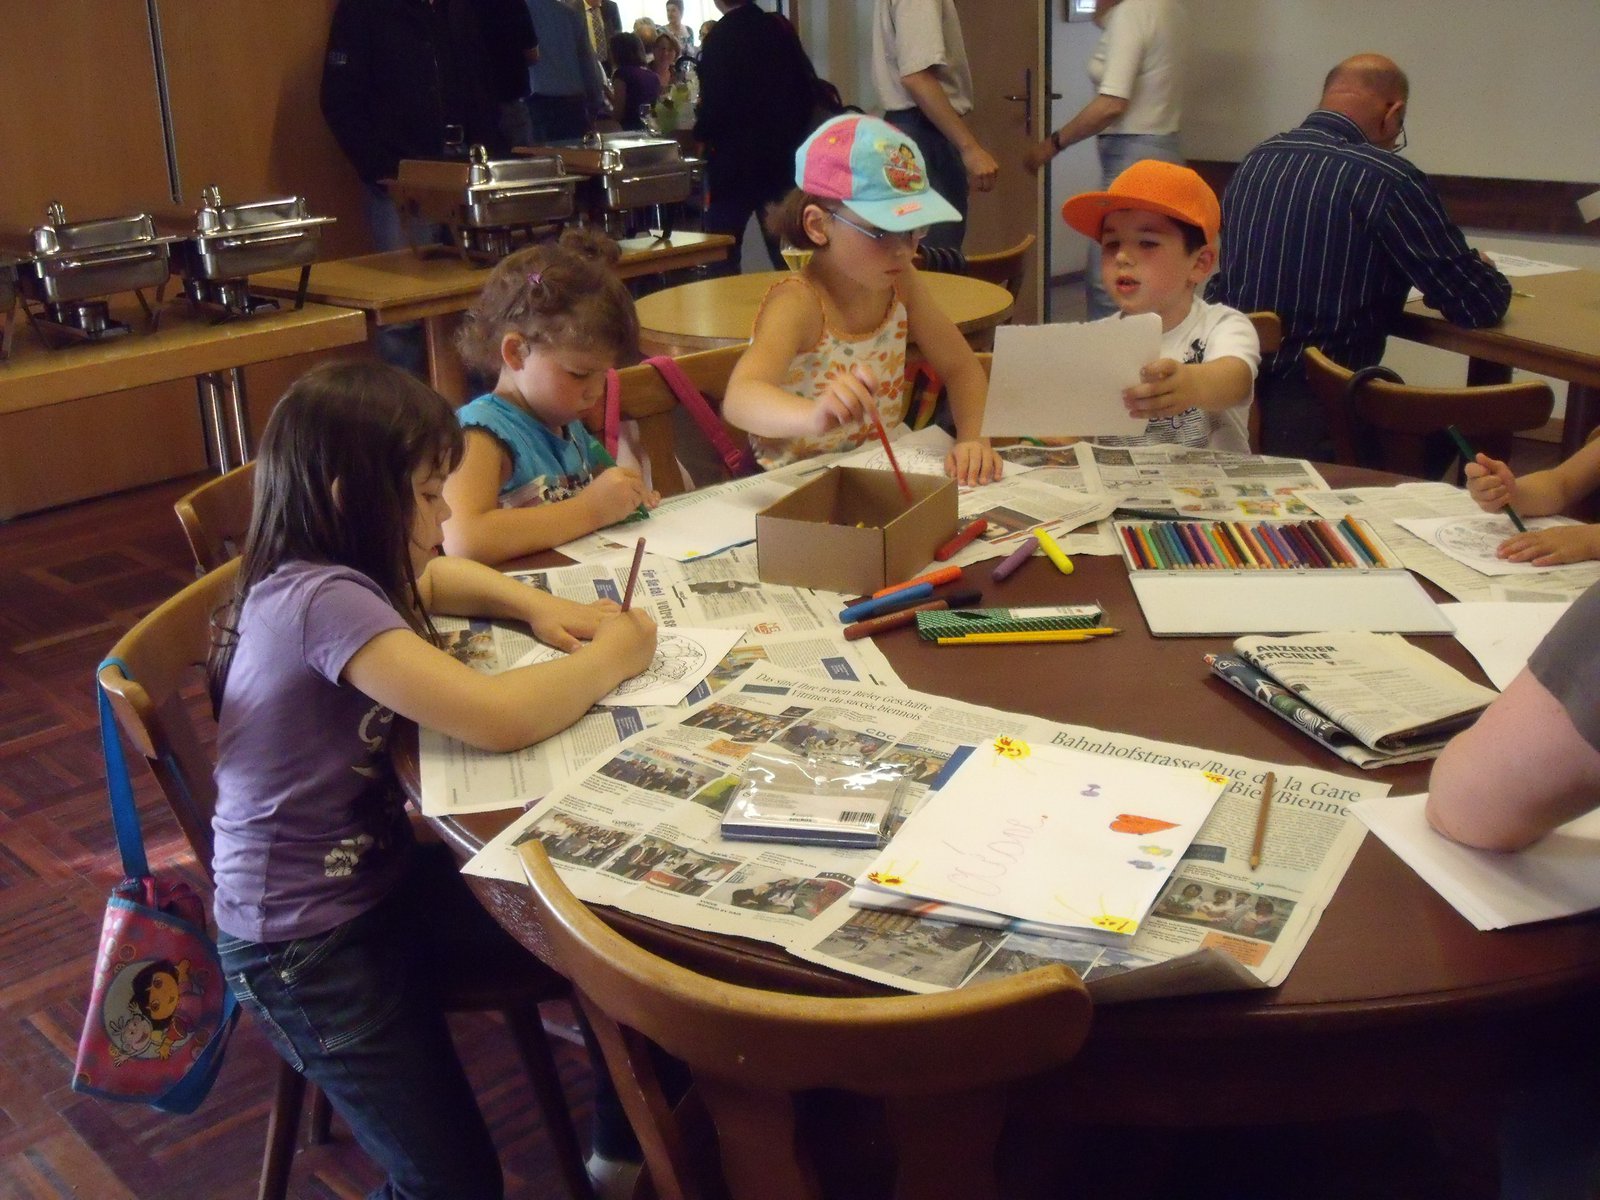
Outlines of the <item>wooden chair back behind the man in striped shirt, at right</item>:
M 1410 387 L 1387 368 L 1357 373 L 1339 366 L 1314 346 L 1301 362 L 1312 394 L 1328 411 L 1334 461 L 1402 475 L 1437 474 L 1426 443 L 1446 426 L 1456 426 L 1485 454 L 1506 459 L 1512 434 L 1539 429 L 1555 406 L 1549 384 L 1534 381 Z

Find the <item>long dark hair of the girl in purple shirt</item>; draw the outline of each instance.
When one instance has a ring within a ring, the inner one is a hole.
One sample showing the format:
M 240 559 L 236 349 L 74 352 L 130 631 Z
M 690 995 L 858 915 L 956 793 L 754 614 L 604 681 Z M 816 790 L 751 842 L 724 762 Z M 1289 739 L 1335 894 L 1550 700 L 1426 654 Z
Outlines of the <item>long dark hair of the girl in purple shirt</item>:
M 245 598 L 286 562 L 360 571 L 413 629 L 434 635 L 411 568 L 411 475 L 422 466 L 454 470 L 462 446 L 450 403 L 398 368 L 322 363 L 290 384 L 261 435 L 238 584 L 213 622 L 213 707 L 222 702 Z

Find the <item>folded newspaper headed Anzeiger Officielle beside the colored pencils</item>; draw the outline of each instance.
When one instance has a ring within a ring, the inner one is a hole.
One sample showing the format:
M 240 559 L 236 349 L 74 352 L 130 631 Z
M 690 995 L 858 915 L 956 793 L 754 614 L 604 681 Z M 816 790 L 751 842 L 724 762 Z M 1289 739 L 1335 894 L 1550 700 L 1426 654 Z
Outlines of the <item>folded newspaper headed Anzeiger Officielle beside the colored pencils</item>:
M 1379 750 L 1464 723 L 1499 694 L 1398 634 L 1242 637 L 1234 650 Z

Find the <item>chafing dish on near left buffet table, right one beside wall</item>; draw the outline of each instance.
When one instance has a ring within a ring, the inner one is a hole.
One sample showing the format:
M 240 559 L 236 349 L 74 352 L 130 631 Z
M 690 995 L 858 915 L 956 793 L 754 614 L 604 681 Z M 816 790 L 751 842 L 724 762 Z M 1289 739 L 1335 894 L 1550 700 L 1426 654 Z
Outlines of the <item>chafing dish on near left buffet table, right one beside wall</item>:
M 173 269 L 184 280 L 184 294 L 197 309 L 243 315 L 277 301 L 251 296 L 250 275 L 280 267 L 302 267 L 301 294 L 306 301 L 310 264 L 317 261 L 323 226 L 331 216 L 310 216 L 304 197 L 285 195 L 224 205 L 216 186 L 200 194 L 194 227 L 173 245 Z

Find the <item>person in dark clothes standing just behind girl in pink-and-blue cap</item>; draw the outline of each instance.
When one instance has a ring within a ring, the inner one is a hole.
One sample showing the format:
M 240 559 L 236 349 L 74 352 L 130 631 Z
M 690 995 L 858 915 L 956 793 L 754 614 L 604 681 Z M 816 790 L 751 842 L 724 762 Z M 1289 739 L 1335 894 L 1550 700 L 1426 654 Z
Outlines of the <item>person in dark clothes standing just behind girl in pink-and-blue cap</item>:
M 794 158 L 811 131 L 811 64 L 798 38 L 750 0 L 717 0 L 723 18 L 701 48 L 699 118 L 706 146 L 706 232 L 744 234 L 750 214 L 794 186 Z M 763 232 L 773 267 L 778 243 Z M 738 270 L 738 254 L 733 256 Z

